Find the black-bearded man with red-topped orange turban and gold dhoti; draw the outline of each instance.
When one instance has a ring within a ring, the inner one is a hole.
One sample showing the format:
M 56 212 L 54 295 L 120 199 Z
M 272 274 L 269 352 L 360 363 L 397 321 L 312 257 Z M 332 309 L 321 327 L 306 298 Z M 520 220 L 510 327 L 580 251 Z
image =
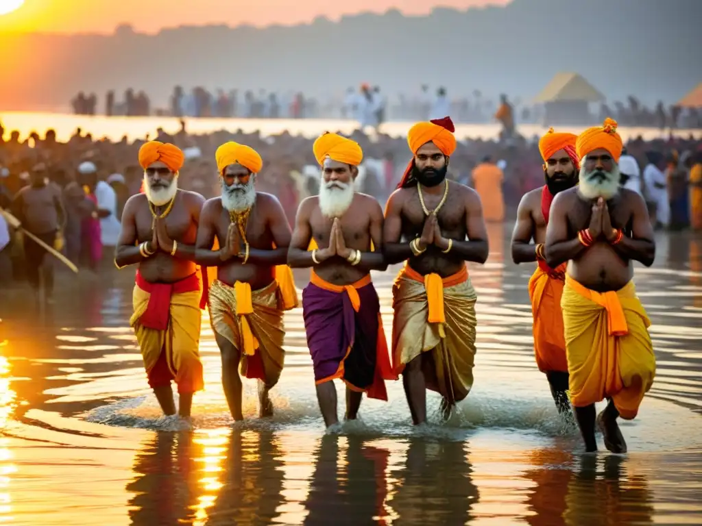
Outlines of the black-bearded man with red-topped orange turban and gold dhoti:
M 446 179 L 453 131 L 449 117 L 412 126 L 413 159 L 385 209 L 386 261 L 406 261 L 392 289 L 392 360 L 414 424 L 426 422 L 427 388 L 447 418 L 473 384 L 476 295 L 465 262 L 484 263 L 488 241 L 478 194 Z

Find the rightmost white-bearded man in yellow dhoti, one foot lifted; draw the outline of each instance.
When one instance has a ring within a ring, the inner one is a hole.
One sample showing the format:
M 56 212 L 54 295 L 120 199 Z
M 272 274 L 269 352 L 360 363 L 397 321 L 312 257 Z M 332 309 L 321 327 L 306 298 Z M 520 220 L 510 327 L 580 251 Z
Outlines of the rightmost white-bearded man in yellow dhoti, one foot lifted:
M 545 243 L 552 269 L 568 262 L 561 307 L 585 449 L 597 450 L 595 403 L 607 398 L 597 426 L 616 453 L 627 450 L 616 419 L 636 417 L 656 374 L 650 321 L 631 281 L 632 261 L 651 266 L 656 245 L 643 198 L 619 186 L 621 150 L 612 119 L 578 136 L 580 182 L 553 200 Z

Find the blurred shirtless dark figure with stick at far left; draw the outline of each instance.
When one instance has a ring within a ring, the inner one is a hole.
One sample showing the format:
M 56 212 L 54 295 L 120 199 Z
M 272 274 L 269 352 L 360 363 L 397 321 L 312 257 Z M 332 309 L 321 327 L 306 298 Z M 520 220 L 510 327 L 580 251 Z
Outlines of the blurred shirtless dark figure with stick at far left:
M 23 228 L 60 251 L 64 245 L 62 228 L 66 223 L 61 190 L 49 182 L 44 163 L 34 166 L 29 177 L 29 186 L 17 192 L 10 210 Z M 44 301 L 53 303 L 53 261 L 47 257 L 46 249 L 29 236 L 24 237 L 24 245 L 25 271 L 34 297 L 39 302 L 39 293 L 43 292 Z

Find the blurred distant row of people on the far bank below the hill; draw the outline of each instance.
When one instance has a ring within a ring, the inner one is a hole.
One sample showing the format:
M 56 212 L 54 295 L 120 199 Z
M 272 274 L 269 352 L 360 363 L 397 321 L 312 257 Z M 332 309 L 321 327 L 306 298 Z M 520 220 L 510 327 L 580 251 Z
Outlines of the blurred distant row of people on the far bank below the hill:
M 349 87 L 343 94 L 320 97 L 302 92 L 218 89 L 210 91 L 201 86 L 186 90 L 183 86 L 173 88 L 168 105 L 153 104 L 143 91 L 129 88 L 123 100 L 118 100 L 114 90 L 105 95 L 104 109 L 99 107 L 95 93 L 80 92 L 71 101 L 72 111 L 77 115 L 107 116 L 177 116 L 216 117 L 240 119 L 353 119 L 362 128 L 378 128 L 385 121 L 416 121 L 440 119 L 446 114 L 457 123 L 489 123 L 507 101 L 483 95 L 479 90 L 470 95 L 450 95 L 444 86 L 430 88 L 423 84 L 414 93 L 397 93 L 394 96 L 381 90 L 380 86 L 362 83 Z M 514 98 L 510 107 L 515 108 L 512 117 L 515 123 L 542 123 L 543 107 Z M 625 102 L 603 103 L 593 121 L 602 121 L 613 116 L 621 126 L 650 128 L 702 128 L 702 112 L 699 108 L 666 107 L 658 102 L 654 108 L 642 104 L 630 96 Z

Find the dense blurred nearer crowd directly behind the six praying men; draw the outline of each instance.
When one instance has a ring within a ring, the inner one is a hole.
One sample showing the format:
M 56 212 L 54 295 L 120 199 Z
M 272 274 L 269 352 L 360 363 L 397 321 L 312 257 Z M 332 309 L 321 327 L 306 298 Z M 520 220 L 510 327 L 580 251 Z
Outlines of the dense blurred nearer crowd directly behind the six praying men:
M 31 184 L 33 177 L 48 179 L 60 190 L 67 211 L 67 256 L 77 264 L 96 268 L 96 259 L 102 258 L 96 247 L 112 250 L 117 241 L 115 225 L 124 203 L 140 189 L 143 170 L 134 159 L 144 141 L 95 140 L 77 130 L 62 143 L 55 140 L 53 130 L 43 138 L 38 134 L 24 138 L 16 132 L 4 133 L 1 126 L 0 130 L 0 137 L 4 137 L 0 140 L 0 206 L 8 208 L 15 194 Z M 365 152 L 357 186 L 380 201 L 388 198 L 405 168 L 404 139 L 388 135 L 371 138 L 360 130 L 351 137 Z M 266 157 L 257 186 L 279 198 L 291 224 L 298 203 L 319 191 L 312 142 L 305 137 L 227 131 L 192 135 L 183 127 L 175 135 L 159 130 L 155 138 L 183 148 L 186 160 L 180 170 L 180 187 L 206 198 L 218 194 L 214 152 L 227 140 L 251 144 Z M 702 229 L 701 148 L 701 142 L 683 137 L 627 144 L 620 163 L 628 177 L 625 184 L 646 198 L 658 227 Z M 520 196 L 543 183 L 538 142 L 523 137 L 509 142 L 466 141 L 452 156 L 448 177 L 477 189 L 486 220 L 501 222 L 514 217 Z M 95 210 L 100 217 L 91 216 Z M 22 251 L 4 229 L 6 226 L 0 224 L 0 240 L 5 240 L 0 241 L 0 260 L 4 268 L 13 260 L 14 275 L 20 278 L 25 269 Z

